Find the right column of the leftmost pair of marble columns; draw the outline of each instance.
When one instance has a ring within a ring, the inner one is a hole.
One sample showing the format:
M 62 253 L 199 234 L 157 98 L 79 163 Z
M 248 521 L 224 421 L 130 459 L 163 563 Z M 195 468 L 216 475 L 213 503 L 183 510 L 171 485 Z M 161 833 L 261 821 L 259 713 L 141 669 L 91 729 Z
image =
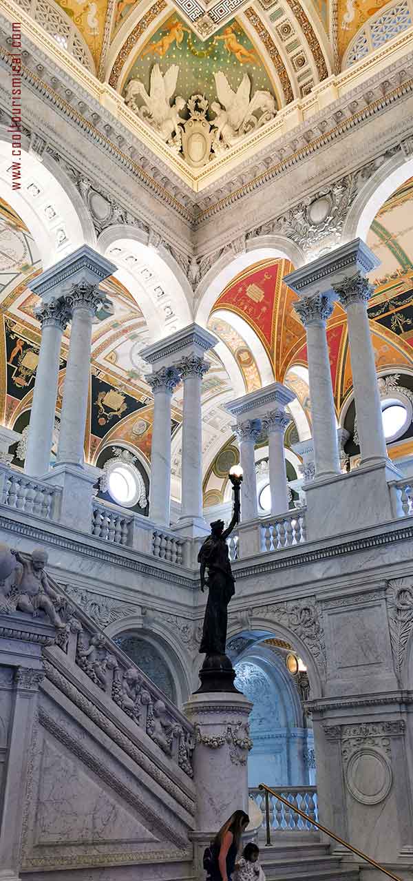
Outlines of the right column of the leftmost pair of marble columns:
M 59 463 L 82 465 L 84 462 L 92 319 L 104 300 L 105 294 L 98 286 L 83 281 L 73 285 L 66 297 L 72 319 L 57 451 Z

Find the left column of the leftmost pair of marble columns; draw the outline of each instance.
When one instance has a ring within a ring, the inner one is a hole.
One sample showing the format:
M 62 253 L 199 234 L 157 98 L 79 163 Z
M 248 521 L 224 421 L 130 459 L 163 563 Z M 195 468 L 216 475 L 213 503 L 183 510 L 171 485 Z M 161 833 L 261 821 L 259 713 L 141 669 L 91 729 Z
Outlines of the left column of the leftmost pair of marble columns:
M 33 477 L 42 477 L 47 474 L 50 464 L 60 349 L 63 330 L 70 321 L 70 310 L 64 300 L 53 300 L 47 306 L 41 304 L 35 315 L 41 323 L 41 350 L 34 383 L 25 471 Z

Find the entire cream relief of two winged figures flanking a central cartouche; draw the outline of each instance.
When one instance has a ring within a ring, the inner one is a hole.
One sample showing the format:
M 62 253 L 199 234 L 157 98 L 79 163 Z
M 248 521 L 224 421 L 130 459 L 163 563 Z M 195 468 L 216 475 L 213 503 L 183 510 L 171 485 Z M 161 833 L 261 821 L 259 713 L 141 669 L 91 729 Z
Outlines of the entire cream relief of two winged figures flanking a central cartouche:
M 251 97 L 251 80 L 247 73 L 237 91 L 233 92 L 221 70 L 214 73 L 218 98 L 210 105 L 214 119 L 207 119 L 209 102 L 204 95 L 193 95 L 188 101 L 178 96 L 171 106 L 179 70 L 178 64 L 172 64 L 163 74 L 159 64 L 155 64 L 151 70 L 149 95 L 139 79 L 131 79 L 125 101 L 143 122 L 158 132 L 166 144 L 176 152 L 182 152 L 192 167 L 201 167 L 214 155 L 229 150 L 277 113 L 276 101 L 271 93 L 258 90 Z M 187 109 L 188 119 L 181 116 L 184 108 Z

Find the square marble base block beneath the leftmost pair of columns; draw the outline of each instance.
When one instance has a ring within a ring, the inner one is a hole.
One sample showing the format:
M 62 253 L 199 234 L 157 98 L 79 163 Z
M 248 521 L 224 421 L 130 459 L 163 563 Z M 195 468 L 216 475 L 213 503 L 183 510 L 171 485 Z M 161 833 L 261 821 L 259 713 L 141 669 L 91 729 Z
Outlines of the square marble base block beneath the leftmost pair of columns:
M 59 522 L 71 529 L 90 533 L 92 530 L 92 486 L 97 481 L 88 466 L 57 463 L 44 481 L 62 487 Z

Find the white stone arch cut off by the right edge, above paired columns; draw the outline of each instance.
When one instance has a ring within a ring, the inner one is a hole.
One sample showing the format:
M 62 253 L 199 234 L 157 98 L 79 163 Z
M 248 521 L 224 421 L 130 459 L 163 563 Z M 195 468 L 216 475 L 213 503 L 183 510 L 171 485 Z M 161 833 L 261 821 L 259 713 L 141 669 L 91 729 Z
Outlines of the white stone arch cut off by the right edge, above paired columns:
M 343 244 L 358 237 L 366 240 L 381 205 L 413 175 L 413 157 L 406 161 L 402 150 L 398 150 L 390 159 L 379 157 L 376 164 L 376 170 L 351 205 L 343 226 Z

